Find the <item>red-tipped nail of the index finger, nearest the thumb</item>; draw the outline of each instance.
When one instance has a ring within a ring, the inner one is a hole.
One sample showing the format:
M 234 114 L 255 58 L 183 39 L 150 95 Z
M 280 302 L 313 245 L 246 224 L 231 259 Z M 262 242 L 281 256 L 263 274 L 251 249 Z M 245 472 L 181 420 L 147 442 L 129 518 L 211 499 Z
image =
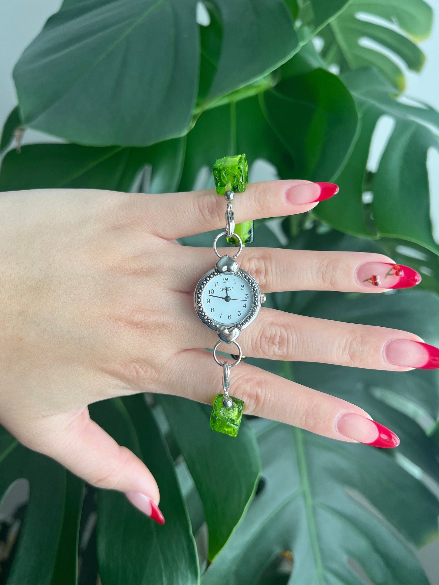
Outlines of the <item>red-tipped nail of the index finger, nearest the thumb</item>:
M 393 431 L 371 418 L 354 412 L 345 412 L 337 421 L 340 435 L 365 445 L 389 449 L 399 445 L 399 438 Z

